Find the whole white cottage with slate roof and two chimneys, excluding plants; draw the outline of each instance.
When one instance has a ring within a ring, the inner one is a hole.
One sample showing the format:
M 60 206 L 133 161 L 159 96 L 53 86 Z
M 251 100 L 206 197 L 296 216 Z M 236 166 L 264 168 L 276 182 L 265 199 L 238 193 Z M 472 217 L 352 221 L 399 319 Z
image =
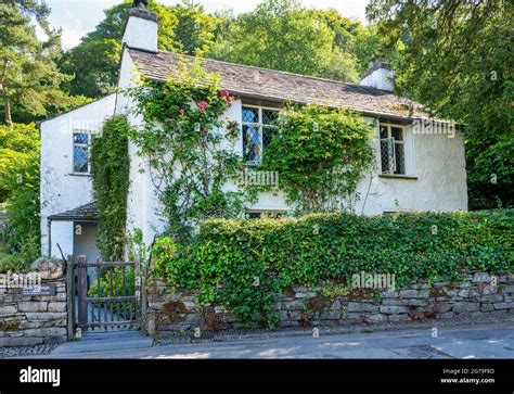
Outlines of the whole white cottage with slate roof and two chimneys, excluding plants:
M 157 49 L 157 20 L 144 9 L 130 10 L 120 63 L 119 88 L 132 86 L 138 75 L 165 80 L 178 55 Z M 367 195 L 356 206 L 365 215 L 402 211 L 467 209 L 466 171 L 462 135 L 449 123 L 434 123 L 412 101 L 391 93 L 390 72 L 374 64 L 360 85 L 291 73 L 202 60 L 203 67 L 220 74 L 220 86 L 237 100 L 226 116 L 240 125 L 239 153 L 250 162 L 266 154 L 267 119 L 284 102 L 349 107 L 376 125 L 376 174 L 358 186 Z M 121 90 L 120 90 L 121 91 Z M 98 212 L 91 195 L 88 152 L 105 118 L 127 115 L 132 125 L 133 103 L 123 93 L 111 94 L 41 124 L 41 246 L 60 256 L 85 254 L 95 260 Z M 438 126 L 438 127 L 435 127 Z M 163 229 L 153 183 L 140 169 L 147 165 L 129 145 L 131 157 L 128 199 L 129 229 L 143 231 L 150 243 Z M 248 207 L 248 217 L 287 211 L 283 195 L 264 193 Z

